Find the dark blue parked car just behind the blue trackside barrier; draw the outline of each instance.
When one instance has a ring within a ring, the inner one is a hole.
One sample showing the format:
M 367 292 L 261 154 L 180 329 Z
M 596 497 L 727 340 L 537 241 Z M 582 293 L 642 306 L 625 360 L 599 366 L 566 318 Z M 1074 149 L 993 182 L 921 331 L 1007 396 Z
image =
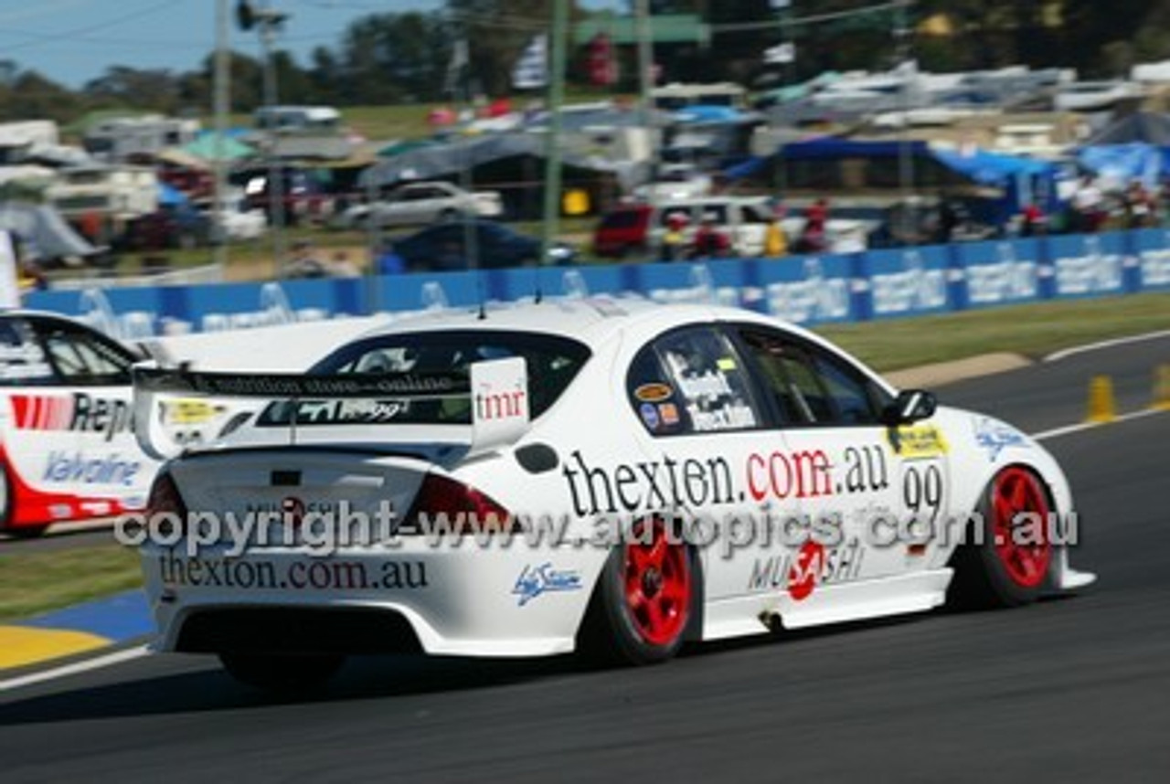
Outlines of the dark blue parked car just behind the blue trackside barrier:
M 472 222 L 475 241 L 476 268 L 501 269 L 526 267 L 541 257 L 541 241 L 519 234 L 490 220 Z M 463 222 L 438 223 L 410 236 L 394 240 L 394 250 L 410 271 L 453 271 L 468 269 L 470 253 L 467 248 L 467 227 Z M 570 263 L 574 253 L 558 243 L 549 253 L 546 263 Z

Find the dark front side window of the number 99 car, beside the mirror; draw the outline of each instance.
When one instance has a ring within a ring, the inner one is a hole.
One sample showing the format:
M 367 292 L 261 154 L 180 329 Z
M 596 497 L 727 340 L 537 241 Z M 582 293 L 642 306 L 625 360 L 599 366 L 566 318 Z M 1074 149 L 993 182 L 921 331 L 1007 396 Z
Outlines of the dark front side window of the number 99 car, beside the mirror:
M 823 350 L 786 336 L 745 330 L 782 422 L 790 425 L 874 425 L 881 400 L 863 374 Z

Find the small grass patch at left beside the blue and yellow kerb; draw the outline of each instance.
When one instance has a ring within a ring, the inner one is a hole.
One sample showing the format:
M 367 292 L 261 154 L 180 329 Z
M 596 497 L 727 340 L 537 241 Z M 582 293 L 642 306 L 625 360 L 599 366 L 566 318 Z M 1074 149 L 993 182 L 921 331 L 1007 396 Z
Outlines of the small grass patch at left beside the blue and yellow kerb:
M 0 621 L 110 596 L 142 585 L 138 553 L 121 544 L 0 555 Z

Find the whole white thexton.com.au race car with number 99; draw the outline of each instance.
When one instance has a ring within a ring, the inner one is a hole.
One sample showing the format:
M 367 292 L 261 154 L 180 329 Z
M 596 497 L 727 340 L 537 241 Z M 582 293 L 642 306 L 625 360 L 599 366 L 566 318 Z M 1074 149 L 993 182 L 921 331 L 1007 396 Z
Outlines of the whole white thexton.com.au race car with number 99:
M 397 322 L 304 376 L 136 372 L 156 453 L 156 394 L 274 400 L 172 459 L 142 529 L 154 648 L 253 685 L 402 649 L 654 662 L 1094 579 L 1035 441 L 746 311 L 545 302 Z

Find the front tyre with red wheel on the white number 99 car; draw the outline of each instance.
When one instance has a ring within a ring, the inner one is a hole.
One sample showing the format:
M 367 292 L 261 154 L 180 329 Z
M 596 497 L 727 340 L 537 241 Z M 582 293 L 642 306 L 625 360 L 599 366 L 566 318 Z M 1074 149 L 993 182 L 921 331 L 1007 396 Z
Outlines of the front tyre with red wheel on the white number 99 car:
M 950 601 L 965 608 L 1035 601 L 1052 563 L 1051 511 L 1048 491 L 1034 473 L 1009 466 L 996 474 L 979 501 L 976 530 L 951 561 Z

